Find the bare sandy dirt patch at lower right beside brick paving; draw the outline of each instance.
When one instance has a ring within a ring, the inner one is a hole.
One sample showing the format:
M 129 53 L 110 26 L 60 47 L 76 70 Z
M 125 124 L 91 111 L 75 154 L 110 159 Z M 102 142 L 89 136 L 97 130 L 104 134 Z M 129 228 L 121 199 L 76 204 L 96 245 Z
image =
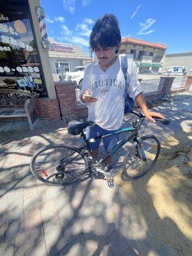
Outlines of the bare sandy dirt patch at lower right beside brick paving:
M 156 172 L 132 182 L 118 177 L 117 182 L 140 211 L 136 222 L 143 236 L 154 236 L 159 246 L 167 243 L 178 255 L 191 256 L 192 131 L 186 128 L 162 144 Z

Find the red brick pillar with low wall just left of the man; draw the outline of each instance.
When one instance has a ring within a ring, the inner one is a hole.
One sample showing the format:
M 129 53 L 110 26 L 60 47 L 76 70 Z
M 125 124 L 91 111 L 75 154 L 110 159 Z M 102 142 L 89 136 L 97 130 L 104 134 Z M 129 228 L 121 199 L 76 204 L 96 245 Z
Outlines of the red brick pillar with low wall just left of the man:
M 77 104 L 76 83 L 55 83 L 56 95 L 59 100 L 61 115 L 66 122 L 70 120 L 86 119 L 88 108 Z

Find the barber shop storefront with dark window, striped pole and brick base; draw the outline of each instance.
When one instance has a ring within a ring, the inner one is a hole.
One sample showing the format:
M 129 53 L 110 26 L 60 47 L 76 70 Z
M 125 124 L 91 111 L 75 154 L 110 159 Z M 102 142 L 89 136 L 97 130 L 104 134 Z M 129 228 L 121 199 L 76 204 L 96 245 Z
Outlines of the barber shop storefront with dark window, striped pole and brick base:
M 48 43 L 45 14 L 39 0 L 0 1 L 1 109 L 4 103 L 13 107 L 35 95 L 39 118 L 61 118 Z

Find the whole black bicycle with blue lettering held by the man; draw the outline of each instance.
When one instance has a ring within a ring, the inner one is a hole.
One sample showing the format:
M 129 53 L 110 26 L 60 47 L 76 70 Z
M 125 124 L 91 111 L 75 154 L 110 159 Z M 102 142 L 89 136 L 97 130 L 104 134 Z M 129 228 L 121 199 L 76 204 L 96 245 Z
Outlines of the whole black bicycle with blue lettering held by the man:
M 82 179 L 86 173 L 91 171 L 93 174 L 102 173 L 102 175 L 105 175 L 110 185 L 113 184 L 113 175 L 104 170 L 106 160 L 120 150 L 128 141 L 132 140 L 132 145 L 124 156 L 122 172 L 125 178 L 138 179 L 142 177 L 156 163 L 161 144 L 154 135 L 139 136 L 138 130 L 145 116 L 135 111 L 132 111 L 132 113 L 137 116 L 132 122 L 132 127 L 119 129 L 118 131 L 91 139 L 97 140 L 97 138 L 129 132 L 129 135 L 120 140 L 99 161 L 94 157 L 92 157 L 91 162 L 89 161 L 88 152 L 91 154 L 92 150 L 90 148 L 90 140 L 86 139 L 86 135 L 84 134 L 86 127 L 88 125 L 94 125 L 94 123 L 91 121 L 74 121 L 68 123 L 68 132 L 72 135 L 79 134 L 83 140 L 83 147 L 77 148 L 65 144 L 42 147 L 31 158 L 31 172 L 37 179 L 47 185 L 63 186 Z M 170 121 L 166 119 L 156 118 L 156 121 L 164 125 L 170 124 Z

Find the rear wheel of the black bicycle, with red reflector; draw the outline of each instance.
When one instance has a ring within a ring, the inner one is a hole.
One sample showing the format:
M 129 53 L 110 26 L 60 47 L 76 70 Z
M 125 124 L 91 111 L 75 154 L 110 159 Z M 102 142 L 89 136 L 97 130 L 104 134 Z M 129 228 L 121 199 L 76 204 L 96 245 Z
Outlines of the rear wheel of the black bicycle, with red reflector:
M 71 145 L 45 146 L 35 152 L 30 168 L 33 175 L 45 184 L 63 186 L 83 177 L 88 158 Z

